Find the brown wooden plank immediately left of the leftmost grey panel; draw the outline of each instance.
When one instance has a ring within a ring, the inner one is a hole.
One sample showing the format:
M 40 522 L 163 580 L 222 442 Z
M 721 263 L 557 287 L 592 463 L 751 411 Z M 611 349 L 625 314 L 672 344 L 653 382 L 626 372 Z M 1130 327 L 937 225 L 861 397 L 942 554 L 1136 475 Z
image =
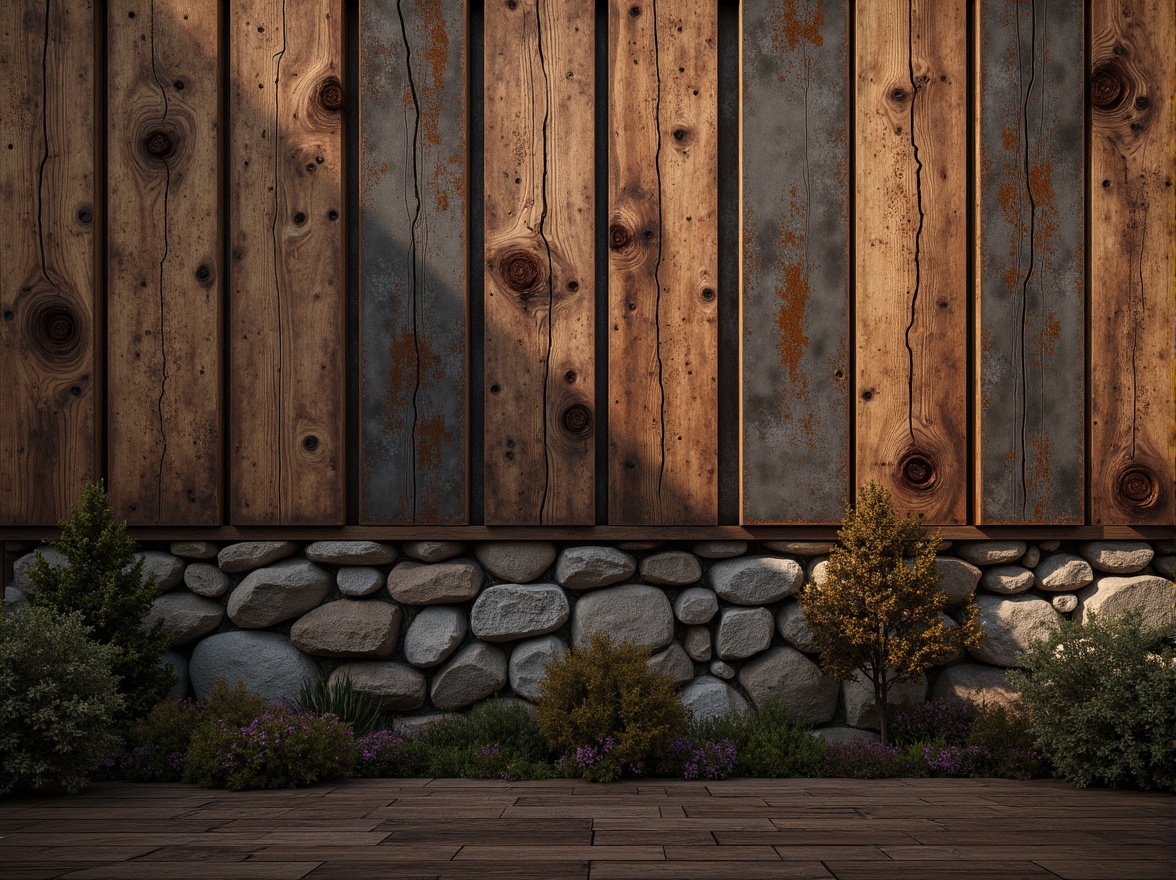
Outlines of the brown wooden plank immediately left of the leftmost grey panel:
M 343 519 L 341 6 L 230 6 L 235 525 Z

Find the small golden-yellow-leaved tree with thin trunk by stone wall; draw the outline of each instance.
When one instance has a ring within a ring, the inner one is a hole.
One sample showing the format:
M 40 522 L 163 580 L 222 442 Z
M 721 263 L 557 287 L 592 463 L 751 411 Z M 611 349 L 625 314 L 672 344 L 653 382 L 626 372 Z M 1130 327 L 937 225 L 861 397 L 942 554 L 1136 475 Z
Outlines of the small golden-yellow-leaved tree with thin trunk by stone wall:
M 971 596 L 958 626 L 943 621 L 948 598 L 935 569 L 940 535 L 927 533 L 922 516 L 896 516 L 883 486 L 862 486 L 837 538 L 826 580 L 804 585 L 801 608 L 826 674 L 846 680 L 858 671 L 874 686 L 886 744 L 890 687 L 917 679 L 984 634 Z

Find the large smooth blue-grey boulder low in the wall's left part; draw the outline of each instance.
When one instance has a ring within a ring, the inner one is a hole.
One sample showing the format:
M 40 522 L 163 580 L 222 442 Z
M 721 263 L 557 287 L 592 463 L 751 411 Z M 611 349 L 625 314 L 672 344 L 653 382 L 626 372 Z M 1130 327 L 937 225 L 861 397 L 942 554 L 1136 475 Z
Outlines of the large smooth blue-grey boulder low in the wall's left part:
M 225 679 L 230 687 L 240 681 L 267 700 L 293 702 L 303 685 L 318 679 L 319 667 L 281 633 L 238 629 L 196 642 L 188 675 L 196 699 Z

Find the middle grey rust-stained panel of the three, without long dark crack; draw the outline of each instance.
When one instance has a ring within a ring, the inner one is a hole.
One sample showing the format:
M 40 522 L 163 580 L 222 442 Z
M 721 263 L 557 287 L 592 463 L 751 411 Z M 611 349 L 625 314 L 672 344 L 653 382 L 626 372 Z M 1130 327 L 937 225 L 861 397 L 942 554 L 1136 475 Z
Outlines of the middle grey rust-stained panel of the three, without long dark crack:
M 849 491 L 847 2 L 748 0 L 742 34 L 743 521 L 837 522 Z

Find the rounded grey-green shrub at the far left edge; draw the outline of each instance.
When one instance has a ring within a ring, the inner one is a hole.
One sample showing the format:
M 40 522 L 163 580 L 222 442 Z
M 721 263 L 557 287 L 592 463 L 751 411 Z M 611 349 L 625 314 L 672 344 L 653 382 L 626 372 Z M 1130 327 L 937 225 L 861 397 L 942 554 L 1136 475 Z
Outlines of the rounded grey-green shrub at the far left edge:
M 116 652 L 87 635 L 80 614 L 0 614 L 0 794 L 76 792 L 118 748 Z

